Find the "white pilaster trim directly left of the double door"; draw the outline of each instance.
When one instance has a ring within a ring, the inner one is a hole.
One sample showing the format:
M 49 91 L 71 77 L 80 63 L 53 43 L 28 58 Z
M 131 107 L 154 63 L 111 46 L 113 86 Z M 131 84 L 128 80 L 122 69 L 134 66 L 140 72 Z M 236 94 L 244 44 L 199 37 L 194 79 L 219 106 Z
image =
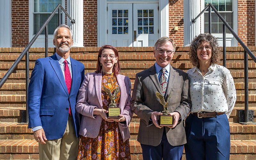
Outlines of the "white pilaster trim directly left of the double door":
M 97 39 L 98 47 L 108 43 L 107 1 L 97 0 Z

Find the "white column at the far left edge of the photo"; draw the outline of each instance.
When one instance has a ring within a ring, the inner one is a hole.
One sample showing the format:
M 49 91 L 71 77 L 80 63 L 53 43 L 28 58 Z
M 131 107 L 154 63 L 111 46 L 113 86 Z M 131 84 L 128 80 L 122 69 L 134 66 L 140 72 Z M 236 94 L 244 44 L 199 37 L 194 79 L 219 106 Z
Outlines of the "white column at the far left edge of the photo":
M 0 47 L 12 47 L 12 1 L 0 1 Z

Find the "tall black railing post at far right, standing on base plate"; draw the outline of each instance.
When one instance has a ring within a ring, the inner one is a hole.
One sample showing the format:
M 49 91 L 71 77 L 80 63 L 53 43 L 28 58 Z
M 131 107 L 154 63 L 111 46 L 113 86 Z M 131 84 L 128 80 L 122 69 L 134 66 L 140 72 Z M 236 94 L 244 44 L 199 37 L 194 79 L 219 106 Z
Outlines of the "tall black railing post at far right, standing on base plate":
M 248 105 L 248 54 L 244 51 L 244 122 L 249 122 Z

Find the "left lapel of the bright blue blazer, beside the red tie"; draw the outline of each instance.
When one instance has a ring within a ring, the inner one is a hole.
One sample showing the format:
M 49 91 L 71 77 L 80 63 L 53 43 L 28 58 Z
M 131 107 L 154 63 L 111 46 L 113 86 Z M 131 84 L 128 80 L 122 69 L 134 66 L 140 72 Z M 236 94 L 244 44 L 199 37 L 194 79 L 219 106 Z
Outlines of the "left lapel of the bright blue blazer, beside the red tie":
M 65 90 L 66 94 L 68 94 L 68 88 L 67 88 L 65 79 L 63 77 L 63 73 L 62 73 L 62 71 L 60 69 L 60 63 L 59 63 L 59 61 L 58 61 L 58 59 L 57 59 L 55 54 L 50 57 L 50 63 L 52 65 L 52 68 L 53 68 L 54 72 L 56 73 L 58 79 L 60 80 L 60 84 L 62 85 L 62 87 Z

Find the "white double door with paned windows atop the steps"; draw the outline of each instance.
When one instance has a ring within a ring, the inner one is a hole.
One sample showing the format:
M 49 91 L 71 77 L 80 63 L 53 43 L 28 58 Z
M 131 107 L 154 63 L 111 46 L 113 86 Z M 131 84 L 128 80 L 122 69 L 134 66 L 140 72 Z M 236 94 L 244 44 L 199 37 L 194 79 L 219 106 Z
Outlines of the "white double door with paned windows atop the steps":
M 154 46 L 159 38 L 158 3 L 108 3 L 108 45 Z

